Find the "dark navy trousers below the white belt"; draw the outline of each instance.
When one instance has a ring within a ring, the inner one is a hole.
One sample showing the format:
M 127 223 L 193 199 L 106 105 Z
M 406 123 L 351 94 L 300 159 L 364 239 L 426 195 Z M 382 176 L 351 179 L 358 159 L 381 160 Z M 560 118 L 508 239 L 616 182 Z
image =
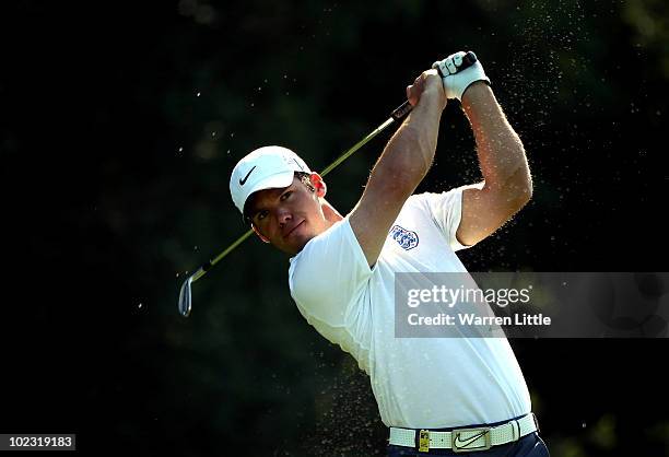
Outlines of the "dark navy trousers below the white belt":
M 493 446 L 488 450 L 476 453 L 454 453 L 451 449 L 430 449 L 419 453 L 418 449 L 404 446 L 388 445 L 388 457 L 424 457 L 424 456 L 459 456 L 459 457 L 549 457 L 548 447 L 537 432 L 523 436 L 514 443 Z

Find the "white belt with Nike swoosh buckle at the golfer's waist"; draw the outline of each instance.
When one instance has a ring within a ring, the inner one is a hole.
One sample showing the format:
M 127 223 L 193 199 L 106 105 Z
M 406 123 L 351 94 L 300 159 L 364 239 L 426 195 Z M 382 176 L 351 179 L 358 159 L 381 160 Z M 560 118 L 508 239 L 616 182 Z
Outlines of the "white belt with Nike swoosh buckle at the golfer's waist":
M 471 453 L 486 450 L 491 446 L 513 443 L 525 435 L 536 432 L 537 419 L 533 413 L 496 426 L 479 426 L 473 429 L 455 429 L 450 432 L 433 432 L 430 430 L 412 430 L 390 427 L 390 444 L 415 447 L 415 434 L 419 433 L 419 450 L 453 449 L 455 453 Z

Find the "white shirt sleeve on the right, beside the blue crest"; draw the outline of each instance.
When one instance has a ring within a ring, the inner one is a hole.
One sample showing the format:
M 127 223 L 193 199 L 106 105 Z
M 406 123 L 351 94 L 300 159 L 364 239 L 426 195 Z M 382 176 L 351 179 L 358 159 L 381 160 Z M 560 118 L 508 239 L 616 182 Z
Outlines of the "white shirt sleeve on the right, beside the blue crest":
M 425 192 L 418 196 L 454 251 L 473 246 L 461 244 L 456 236 L 462 219 L 462 190 L 481 188 L 483 183 L 457 187 L 447 192 Z

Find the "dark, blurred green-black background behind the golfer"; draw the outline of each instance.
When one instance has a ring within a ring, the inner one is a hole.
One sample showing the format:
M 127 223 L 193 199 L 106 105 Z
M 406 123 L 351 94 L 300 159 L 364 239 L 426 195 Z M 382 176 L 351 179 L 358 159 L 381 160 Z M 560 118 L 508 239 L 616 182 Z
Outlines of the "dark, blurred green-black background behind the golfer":
M 246 230 L 232 167 L 282 144 L 320 169 L 472 49 L 535 197 L 465 265 L 666 270 L 668 21 L 659 0 L 4 4 L 0 432 L 94 455 L 383 454 L 367 377 L 300 316 L 281 254 L 248 241 L 178 316 L 186 272 Z M 340 211 L 389 134 L 330 175 Z M 449 104 L 420 190 L 479 178 Z M 669 455 L 666 339 L 512 344 L 554 456 Z

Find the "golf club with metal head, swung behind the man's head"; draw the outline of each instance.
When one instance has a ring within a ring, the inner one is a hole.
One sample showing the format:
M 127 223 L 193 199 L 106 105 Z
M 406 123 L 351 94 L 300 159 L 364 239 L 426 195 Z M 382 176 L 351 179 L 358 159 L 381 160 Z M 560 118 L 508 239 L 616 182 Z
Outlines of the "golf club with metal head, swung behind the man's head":
M 477 56 L 472 51 L 468 51 L 462 57 L 462 63 L 460 65 L 459 69 L 463 70 L 467 67 L 470 67 L 471 65 L 473 65 L 476 61 L 477 61 Z M 444 78 L 444 74 L 442 74 L 442 71 L 438 68 L 437 68 L 437 71 L 439 72 L 439 75 L 442 78 Z M 412 108 L 413 107 L 411 106 L 409 101 L 404 102 L 401 106 L 399 106 L 397 109 L 395 109 L 390 114 L 390 117 L 384 124 L 378 126 L 374 131 L 372 131 L 372 133 L 367 134 L 365 138 L 360 140 L 351 149 L 349 149 L 343 154 L 341 154 L 339 156 L 339 159 L 337 159 L 334 162 L 332 162 L 330 165 L 328 165 L 320 173 L 320 176 L 325 177 L 328 173 L 330 173 L 332 169 L 334 169 L 337 166 L 339 166 L 343 161 L 349 159 L 351 156 L 351 154 L 353 154 L 355 151 L 357 151 L 359 149 L 364 147 L 367 142 L 369 142 L 378 133 L 384 131 L 388 126 L 390 126 L 391 124 L 395 124 L 395 122 L 399 124 L 409 113 L 411 113 Z M 195 273 L 192 273 L 190 277 L 188 277 L 186 279 L 186 281 L 184 281 L 184 284 L 181 284 L 181 290 L 179 291 L 179 303 L 178 303 L 179 313 L 181 314 L 181 316 L 188 317 L 190 315 L 190 310 L 192 308 L 192 294 L 191 294 L 191 285 L 192 285 L 192 283 L 196 282 L 197 280 L 199 280 L 200 278 L 202 278 L 209 270 L 211 270 L 211 268 L 214 265 L 220 262 L 221 259 L 223 259 L 225 256 L 227 256 L 233 249 L 235 249 L 246 238 L 248 238 L 251 233 L 254 233 L 254 231 L 249 230 L 244 235 L 239 236 L 237 238 L 237 241 L 235 241 L 227 248 L 225 248 L 225 250 L 223 250 L 221 254 L 219 254 L 214 259 L 209 260 L 207 263 L 202 265 L 200 268 L 198 268 L 198 270 Z

